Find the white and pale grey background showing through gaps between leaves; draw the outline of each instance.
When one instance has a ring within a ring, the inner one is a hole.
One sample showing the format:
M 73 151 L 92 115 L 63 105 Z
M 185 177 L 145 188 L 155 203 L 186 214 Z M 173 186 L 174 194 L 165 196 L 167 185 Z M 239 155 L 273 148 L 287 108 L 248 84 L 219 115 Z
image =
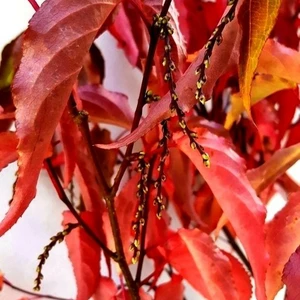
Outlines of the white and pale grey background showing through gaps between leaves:
M 0 51 L 27 27 L 33 13 L 32 7 L 26 0 L 0 1 Z M 114 39 L 108 34 L 100 38 L 98 45 L 106 59 L 104 82 L 106 88 L 127 94 L 134 105 L 139 91 L 137 83 L 141 81 L 140 72 L 132 69 L 124 59 L 122 51 L 116 49 Z M 122 72 L 119 72 L 120 70 Z M 291 170 L 294 176 L 297 170 L 299 168 Z M 0 173 L 0 219 L 8 209 L 15 171 L 16 164 L 11 164 Z M 299 182 L 299 176 L 296 179 Z M 276 205 L 273 205 L 275 202 Z M 269 218 L 284 204 L 284 201 L 280 196 L 276 196 L 276 201 L 272 203 Z M 37 197 L 18 223 L 0 238 L 0 270 L 8 280 L 19 287 L 31 290 L 36 276 L 37 256 L 48 244 L 49 238 L 61 230 L 61 212 L 65 209 L 57 198 L 47 175 L 42 172 Z M 64 243 L 51 251 L 43 274 L 41 293 L 75 298 L 76 286 Z M 18 300 L 21 296 L 26 295 L 7 286 L 4 286 L 3 291 L 0 292 L 0 300 Z M 189 289 L 187 299 L 194 300 L 200 297 Z M 278 295 L 277 299 L 283 299 L 283 294 Z

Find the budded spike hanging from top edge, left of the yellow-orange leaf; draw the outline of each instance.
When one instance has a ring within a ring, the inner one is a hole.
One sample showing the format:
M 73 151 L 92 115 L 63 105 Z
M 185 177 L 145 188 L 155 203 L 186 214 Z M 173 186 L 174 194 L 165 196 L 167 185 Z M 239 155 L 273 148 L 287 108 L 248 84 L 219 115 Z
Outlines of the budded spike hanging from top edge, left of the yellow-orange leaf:
M 225 17 L 221 20 L 220 24 L 215 28 L 214 32 L 212 33 L 211 37 L 209 38 L 208 42 L 205 45 L 205 53 L 202 60 L 202 63 L 197 67 L 195 74 L 198 76 L 197 81 L 197 89 L 195 92 L 195 98 L 197 101 L 199 101 L 202 105 L 205 104 L 206 98 L 203 93 L 203 86 L 205 85 L 207 81 L 206 77 L 206 69 L 209 67 L 209 60 L 212 56 L 213 49 L 215 45 L 220 45 L 223 41 L 222 33 L 223 30 L 229 22 L 231 22 L 234 19 L 235 16 L 235 9 L 237 5 L 238 0 L 228 0 L 227 5 L 231 6 L 228 13 Z

